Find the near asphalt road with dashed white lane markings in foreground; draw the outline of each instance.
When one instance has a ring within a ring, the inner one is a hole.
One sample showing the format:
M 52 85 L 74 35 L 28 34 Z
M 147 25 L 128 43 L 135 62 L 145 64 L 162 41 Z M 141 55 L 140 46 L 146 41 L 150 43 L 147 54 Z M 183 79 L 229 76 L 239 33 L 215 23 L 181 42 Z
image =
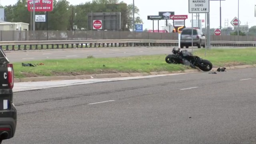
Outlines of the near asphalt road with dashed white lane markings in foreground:
M 256 68 L 17 92 L 4 144 L 255 144 Z

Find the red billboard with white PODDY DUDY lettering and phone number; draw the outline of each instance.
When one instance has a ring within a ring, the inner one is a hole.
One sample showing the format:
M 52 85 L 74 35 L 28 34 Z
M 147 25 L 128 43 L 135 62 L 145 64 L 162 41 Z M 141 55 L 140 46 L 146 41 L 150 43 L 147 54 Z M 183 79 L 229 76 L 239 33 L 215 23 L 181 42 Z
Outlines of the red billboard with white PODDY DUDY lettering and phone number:
M 51 12 L 53 0 L 35 0 L 35 12 Z M 28 0 L 28 11 L 33 11 L 33 0 Z

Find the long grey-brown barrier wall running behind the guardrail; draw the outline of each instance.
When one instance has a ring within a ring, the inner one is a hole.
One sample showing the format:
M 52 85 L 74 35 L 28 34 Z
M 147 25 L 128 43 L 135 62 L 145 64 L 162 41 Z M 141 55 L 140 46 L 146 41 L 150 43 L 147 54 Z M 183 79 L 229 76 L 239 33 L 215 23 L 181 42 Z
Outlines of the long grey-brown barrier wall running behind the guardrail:
M 153 39 L 178 40 L 177 33 L 149 33 L 129 31 L 0 31 L 1 41 L 32 40 L 99 40 L 99 39 Z M 211 41 L 255 41 L 256 36 L 211 35 Z

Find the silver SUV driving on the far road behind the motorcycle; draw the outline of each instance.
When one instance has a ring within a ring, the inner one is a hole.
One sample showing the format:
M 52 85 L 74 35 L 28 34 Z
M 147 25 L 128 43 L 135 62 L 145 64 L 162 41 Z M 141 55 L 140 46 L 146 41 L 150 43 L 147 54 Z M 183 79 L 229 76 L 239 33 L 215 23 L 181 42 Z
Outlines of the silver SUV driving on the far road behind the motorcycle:
M 192 28 L 184 28 L 181 31 L 180 36 L 180 48 L 183 48 L 186 46 L 188 48 L 189 46 L 192 46 Z M 197 46 L 198 48 L 201 48 L 201 46 L 205 47 L 205 35 L 202 33 L 200 29 L 193 28 L 193 46 Z

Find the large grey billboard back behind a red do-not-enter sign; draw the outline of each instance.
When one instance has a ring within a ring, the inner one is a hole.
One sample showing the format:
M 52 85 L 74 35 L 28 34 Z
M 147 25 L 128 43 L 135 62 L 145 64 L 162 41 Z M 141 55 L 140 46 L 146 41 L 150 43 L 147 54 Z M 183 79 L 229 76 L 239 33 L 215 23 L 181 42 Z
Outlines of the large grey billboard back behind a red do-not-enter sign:
M 87 14 L 88 30 L 98 29 L 96 25 L 100 24 L 102 30 L 120 30 L 121 12 L 90 12 Z M 101 21 L 96 23 L 95 20 Z

